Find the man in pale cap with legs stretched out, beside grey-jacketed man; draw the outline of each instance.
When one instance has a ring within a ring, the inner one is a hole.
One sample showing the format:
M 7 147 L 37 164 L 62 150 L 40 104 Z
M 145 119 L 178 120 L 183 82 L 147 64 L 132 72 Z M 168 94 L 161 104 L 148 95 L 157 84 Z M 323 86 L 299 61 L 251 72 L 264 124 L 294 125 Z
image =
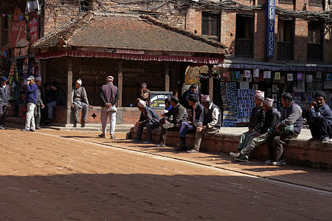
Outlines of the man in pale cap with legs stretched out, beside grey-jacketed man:
M 257 148 L 257 146 L 261 146 L 266 142 L 266 139 L 269 136 L 268 131 L 273 130 L 275 128 L 275 124 L 280 117 L 279 111 L 276 108 L 273 108 L 273 99 L 266 97 L 263 102 L 263 110 L 265 111 L 265 121 L 264 126 L 259 130 L 255 131 L 254 136 L 250 138 L 248 141 L 248 145 L 245 146 L 240 152 L 234 153 L 230 152 L 231 157 L 236 161 L 240 162 L 248 162 L 250 153 Z

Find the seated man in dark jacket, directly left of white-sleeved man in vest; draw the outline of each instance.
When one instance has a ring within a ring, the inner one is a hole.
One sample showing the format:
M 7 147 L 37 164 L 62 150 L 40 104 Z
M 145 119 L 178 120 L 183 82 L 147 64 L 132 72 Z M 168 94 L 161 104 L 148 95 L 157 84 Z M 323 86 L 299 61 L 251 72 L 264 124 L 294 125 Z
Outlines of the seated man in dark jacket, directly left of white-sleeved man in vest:
M 187 133 L 195 133 L 196 124 L 199 123 L 199 117 L 201 117 L 201 113 L 203 111 L 203 106 L 199 103 L 198 97 L 196 95 L 191 94 L 188 97 L 188 103 L 193 109 L 192 117 L 190 117 L 190 122 L 181 122 L 181 133 L 180 133 L 180 143 L 176 151 L 187 151 L 187 146 L 185 144 L 185 135 Z

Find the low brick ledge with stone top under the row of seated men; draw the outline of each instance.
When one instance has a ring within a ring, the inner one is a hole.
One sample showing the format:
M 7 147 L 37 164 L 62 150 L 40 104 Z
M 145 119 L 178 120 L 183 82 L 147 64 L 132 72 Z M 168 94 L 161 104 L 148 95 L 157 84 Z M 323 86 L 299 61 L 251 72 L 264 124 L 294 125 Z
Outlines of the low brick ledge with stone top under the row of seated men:
M 216 133 L 213 137 L 203 138 L 201 142 L 201 150 L 212 153 L 237 151 L 237 145 L 241 133 L 246 131 L 246 128 L 233 128 L 232 130 L 224 129 L 226 132 Z M 131 128 L 131 138 L 136 138 L 137 128 Z M 154 130 L 153 140 L 158 142 L 160 128 Z M 320 141 L 308 142 L 308 131 L 297 139 L 291 140 L 284 145 L 284 157 L 288 163 L 302 166 L 311 166 L 314 168 L 332 169 L 332 142 L 322 144 Z M 142 139 L 147 139 L 146 129 L 143 131 Z M 192 148 L 195 140 L 194 134 L 187 135 L 187 147 Z M 178 132 L 169 131 L 167 133 L 166 144 L 169 146 L 176 146 L 178 144 Z M 268 152 L 266 144 L 259 146 L 250 157 L 266 160 Z

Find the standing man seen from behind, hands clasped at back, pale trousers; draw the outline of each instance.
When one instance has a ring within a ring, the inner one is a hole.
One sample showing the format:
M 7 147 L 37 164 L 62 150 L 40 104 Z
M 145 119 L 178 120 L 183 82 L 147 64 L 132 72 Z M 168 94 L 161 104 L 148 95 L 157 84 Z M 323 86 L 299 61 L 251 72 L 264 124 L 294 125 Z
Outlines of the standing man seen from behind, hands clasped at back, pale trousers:
M 114 131 L 116 130 L 116 102 L 119 99 L 118 87 L 113 85 L 112 76 L 107 76 L 106 84 L 100 88 L 100 99 L 102 99 L 102 134 L 99 137 L 105 137 L 107 118 L 109 117 L 109 133 L 111 139 L 115 139 Z

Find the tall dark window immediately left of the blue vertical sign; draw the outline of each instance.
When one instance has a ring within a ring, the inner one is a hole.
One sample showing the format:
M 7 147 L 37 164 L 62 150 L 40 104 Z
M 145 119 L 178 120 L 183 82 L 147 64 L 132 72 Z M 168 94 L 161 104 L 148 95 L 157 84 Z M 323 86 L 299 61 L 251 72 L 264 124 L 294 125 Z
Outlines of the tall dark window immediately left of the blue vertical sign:
M 253 18 L 248 15 L 237 15 L 235 32 L 235 56 L 252 57 Z

